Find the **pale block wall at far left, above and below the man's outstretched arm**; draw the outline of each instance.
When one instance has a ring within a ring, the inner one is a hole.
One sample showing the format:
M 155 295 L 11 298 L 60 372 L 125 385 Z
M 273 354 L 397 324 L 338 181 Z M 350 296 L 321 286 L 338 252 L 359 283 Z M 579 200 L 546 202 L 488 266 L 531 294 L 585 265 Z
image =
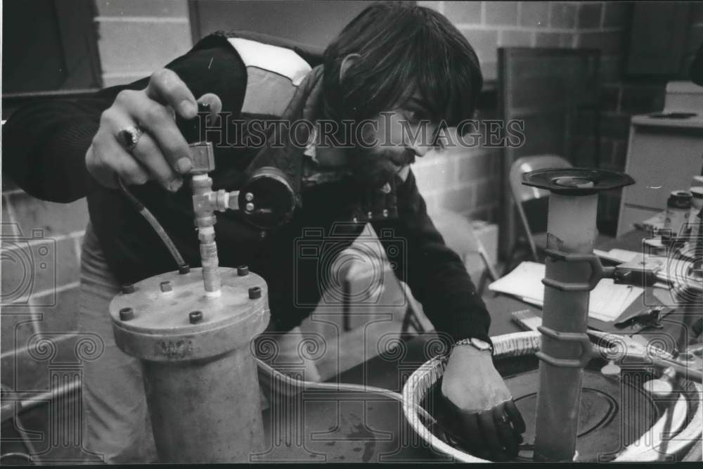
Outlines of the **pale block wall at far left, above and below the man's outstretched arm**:
M 186 0 L 95 3 L 105 86 L 150 75 L 191 48 Z M 52 364 L 77 363 L 75 331 L 86 202 L 37 200 L 6 178 L 2 187 L 0 382 L 9 390 L 42 392 L 49 389 Z M 37 335 L 51 338 L 56 346 L 53 357 L 38 359 L 41 354 L 28 349 Z

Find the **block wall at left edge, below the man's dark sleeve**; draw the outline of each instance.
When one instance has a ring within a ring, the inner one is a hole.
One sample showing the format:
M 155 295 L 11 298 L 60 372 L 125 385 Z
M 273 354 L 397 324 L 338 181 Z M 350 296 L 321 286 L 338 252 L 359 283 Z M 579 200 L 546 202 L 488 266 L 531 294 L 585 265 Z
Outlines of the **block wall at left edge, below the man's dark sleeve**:
M 52 366 L 80 366 L 75 342 L 87 221 L 85 200 L 44 202 L 4 178 L 0 383 L 6 390 L 46 392 Z

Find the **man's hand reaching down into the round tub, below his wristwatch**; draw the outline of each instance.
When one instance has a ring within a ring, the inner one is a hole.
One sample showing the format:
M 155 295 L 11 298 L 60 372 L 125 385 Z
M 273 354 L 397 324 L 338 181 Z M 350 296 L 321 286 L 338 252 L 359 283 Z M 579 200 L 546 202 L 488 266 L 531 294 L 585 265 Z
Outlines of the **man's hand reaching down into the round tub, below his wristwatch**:
M 441 392 L 456 406 L 461 436 L 477 456 L 505 461 L 517 455 L 524 420 L 493 366 L 491 352 L 454 347 Z

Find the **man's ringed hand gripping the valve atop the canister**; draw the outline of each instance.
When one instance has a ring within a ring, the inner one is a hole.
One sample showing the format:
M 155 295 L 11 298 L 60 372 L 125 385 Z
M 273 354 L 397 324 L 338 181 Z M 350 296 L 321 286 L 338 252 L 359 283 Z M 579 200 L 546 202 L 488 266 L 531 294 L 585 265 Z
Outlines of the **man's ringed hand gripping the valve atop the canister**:
M 86 152 L 86 167 L 103 186 L 115 188 L 115 175 L 127 184 L 154 179 L 169 191 L 183 185 L 182 174 L 191 170 L 186 139 L 176 127 L 176 114 L 193 119 L 198 103 L 209 104 L 212 115 L 222 109 L 214 94 L 198 101 L 172 70 L 162 68 L 151 75 L 146 89 L 123 90 L 101 115 L 100 127 Z M 131 151 L 120 141 L 120 131 L 138 126 L 143 130 Z

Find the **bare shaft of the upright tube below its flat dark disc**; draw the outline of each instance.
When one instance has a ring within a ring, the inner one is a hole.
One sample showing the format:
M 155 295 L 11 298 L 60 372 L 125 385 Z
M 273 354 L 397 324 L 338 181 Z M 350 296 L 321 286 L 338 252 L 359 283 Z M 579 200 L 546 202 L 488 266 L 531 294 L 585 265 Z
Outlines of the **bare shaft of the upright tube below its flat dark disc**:
M 593 252 L 598 194 L 550 194 L 547 248 L 581 254 Z M 586 283 L 591 266 L 586 262 L 561 262 L 547 257 L 546 278 Z M 585 333 L 589 291 L 563 291 L 545 285 L 542 325 L 565 333 Z M 542 336 L 541 351 L 558 359 L 578 360 L 583 353 L 577 342 Z M 571 461 L 576 449 L 583 368 L 539 364 L 537 394 L 536 461 Z

